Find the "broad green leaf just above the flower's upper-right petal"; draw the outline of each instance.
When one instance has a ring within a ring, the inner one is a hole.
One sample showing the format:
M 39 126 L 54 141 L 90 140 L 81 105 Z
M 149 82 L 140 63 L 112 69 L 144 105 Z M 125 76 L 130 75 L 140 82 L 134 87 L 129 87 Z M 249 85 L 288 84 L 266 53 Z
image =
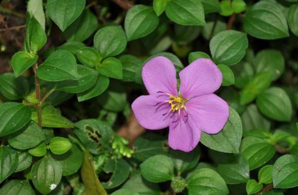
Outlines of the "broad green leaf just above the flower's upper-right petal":
M 216 64 L 232 66 L 238 63 L 247 48 L 246 33 L 235 30 L 219 32 L 210 41 L 212 59 Z

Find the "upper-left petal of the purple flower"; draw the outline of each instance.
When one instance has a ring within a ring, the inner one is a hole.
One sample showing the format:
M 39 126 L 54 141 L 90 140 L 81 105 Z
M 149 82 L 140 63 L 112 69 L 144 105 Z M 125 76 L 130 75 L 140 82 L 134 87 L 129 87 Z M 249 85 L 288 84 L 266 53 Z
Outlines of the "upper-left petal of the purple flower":
M 149 94 L 163 91 L 178 95 L 176 69 L 166 57 L 158 56 L 148 61 L 142 69 L 142 79 Z

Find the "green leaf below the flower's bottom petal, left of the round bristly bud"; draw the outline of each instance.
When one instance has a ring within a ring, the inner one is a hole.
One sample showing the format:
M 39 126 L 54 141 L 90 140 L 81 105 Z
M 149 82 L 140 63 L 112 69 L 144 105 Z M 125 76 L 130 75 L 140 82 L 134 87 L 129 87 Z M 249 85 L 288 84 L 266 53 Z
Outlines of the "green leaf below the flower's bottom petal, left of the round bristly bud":
M 174 163 L 165 155 L 155 155 L 141 165 L 142 176 L 150 182 L 158 183 L 174 179 Z

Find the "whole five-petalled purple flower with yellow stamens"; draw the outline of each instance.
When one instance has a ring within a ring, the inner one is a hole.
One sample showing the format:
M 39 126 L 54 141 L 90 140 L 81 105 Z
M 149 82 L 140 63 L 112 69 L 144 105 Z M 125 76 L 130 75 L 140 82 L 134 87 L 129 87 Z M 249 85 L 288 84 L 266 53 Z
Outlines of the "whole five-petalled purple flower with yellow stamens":
M 201 131 L 215 134 L 229 118 L 229 106 L 213 94 L 221 85 L 222 74 L 209 59 L 198 59 L 179 72 L 163 56 L 148 61 L 142 78 L 149 95 L 138 97 L 133 105 L 136 119 L 146 129 L 170 127 L 169 145 L 189 152 L 200 141 Z

